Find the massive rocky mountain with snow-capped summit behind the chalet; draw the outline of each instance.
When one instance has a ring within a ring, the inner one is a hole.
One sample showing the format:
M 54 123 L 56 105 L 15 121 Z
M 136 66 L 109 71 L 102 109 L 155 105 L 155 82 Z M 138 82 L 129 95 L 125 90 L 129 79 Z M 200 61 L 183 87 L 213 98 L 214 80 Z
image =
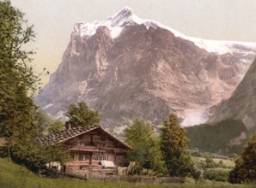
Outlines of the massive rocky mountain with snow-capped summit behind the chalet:
M 85 100 L 104 126 L 134 117 L 158 124 L 171 112 L 190 126 L 208 120 L 208 109 L 230 97 L 255 54 L 256 44 L 188 38 L 125 8 L 106 21 L 76 23 L 36 101 L 60 118 L 71 103 Z

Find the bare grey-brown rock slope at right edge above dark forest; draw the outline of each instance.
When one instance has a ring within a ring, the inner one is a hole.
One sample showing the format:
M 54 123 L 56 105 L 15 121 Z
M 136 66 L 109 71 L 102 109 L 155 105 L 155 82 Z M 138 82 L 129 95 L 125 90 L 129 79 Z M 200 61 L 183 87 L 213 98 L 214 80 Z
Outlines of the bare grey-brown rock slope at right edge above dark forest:
M 256 60 L 250 66 L 232 96 L 223 101 L 216 110 L 216 115 L 209 122 L 220 120 L 242 120 L 248 132 L 256 130 Z

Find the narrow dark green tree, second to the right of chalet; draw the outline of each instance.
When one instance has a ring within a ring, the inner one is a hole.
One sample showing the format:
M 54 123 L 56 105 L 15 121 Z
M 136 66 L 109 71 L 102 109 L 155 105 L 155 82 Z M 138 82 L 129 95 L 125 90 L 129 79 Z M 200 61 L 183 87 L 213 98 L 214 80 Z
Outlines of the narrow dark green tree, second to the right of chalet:
M 192 173 L 192 159 L 186 152 L 187 144 L 186 130 L 180 127 L 176 115 L 169 115 L 163 121 L 161 133 L 161 150 L 169 175 L 185 177 Z

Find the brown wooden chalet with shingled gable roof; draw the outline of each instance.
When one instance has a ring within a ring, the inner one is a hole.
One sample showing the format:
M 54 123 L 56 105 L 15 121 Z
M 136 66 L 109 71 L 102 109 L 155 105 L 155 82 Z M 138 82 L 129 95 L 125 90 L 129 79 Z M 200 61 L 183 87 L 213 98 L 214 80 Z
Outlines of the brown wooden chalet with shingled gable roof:
M 46 145 L 64 144 L 66 146 L 70 153 L 70 162 L 61 167 L 63 172 L 71 169 L 77 171 L 113 166 L 122 167 L 127 163 L 127 150 L 131 150 L 128 145 L 113 137 L 101 126 L 69 126 L 65 131 L 37 138 L 37 142 Z

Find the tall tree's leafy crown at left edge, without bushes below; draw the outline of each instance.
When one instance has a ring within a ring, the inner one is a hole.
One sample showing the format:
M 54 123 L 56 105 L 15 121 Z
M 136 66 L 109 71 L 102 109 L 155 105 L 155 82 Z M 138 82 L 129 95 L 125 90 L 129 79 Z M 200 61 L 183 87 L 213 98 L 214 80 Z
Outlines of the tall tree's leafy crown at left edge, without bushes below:
M 29 65 L 33 51 L 22 50 L 34 32 L 20 10 L 1 1 L 0 33 L 0 136 L 15 148 L 35 135 L 35 105 L 27 94 L 36 91 L 39 79 Z

